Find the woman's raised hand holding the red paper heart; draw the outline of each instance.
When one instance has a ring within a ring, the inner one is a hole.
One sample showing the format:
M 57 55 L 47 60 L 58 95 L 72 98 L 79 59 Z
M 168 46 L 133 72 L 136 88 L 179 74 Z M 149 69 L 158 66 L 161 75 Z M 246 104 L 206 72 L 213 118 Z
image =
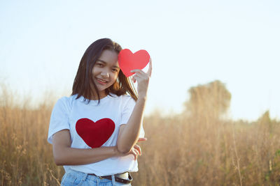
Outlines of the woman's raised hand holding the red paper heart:
M 146 98 L 148 91 L 148 82 L 152 75 L 152 59 L 149 61 L 148 72 L 144 72 L 140 69 L 131 70 L 131 72 L 135 72 L 135 75 L 132 77 L 133 82 L 137 82 L 137 91 L 139 98 Z

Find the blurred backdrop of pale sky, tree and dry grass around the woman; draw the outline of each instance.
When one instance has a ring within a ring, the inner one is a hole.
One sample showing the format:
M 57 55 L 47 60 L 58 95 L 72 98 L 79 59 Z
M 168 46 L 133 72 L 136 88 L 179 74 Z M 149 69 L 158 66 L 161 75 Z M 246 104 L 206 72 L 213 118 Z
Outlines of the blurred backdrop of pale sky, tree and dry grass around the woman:
M 270 0 L 0 1 L 0 185 L 59 185 L 50 113 L 99 38 L 153 59 L 134 185 L 279 183 L 279 8 Z

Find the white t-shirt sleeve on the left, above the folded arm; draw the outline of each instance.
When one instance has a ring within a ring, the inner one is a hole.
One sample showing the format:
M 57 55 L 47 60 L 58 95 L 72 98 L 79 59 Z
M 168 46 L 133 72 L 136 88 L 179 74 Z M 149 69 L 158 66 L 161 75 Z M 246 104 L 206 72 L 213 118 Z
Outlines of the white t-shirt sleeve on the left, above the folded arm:
M 69 98 L 61 98 L 52 109 L 50 116 L 50 126 L 48 128 L 48 142 L 52 144 L 52 136 L 60 130 L 68 129 L 69 125 Z

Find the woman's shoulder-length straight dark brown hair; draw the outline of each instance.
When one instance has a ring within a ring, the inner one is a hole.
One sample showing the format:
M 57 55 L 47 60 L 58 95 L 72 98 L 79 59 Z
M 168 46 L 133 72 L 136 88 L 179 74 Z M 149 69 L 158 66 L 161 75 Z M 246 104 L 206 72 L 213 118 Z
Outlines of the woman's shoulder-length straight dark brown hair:
M 90 102 L 90 98 L 92 98 L 94 94 L 97 94 L 98 101 L 100 101 L 99 91 L 96 84 L 94 84 L 92 77 L 92 68 L 105 49 L 109 49 L 119 54 L 120 50 L 122 50 L 122 47 L 120 47 L 117 42 L 113 42 L 109 38 L 96 40 L 92 42 L 89 47 L 87 47 L 85 54 L 83 54 L 83 57 L 80 60 L 78 72 L 73 82 L 71 95 L 78 94 L 76 99 L 80 98 L 80 96 L 83 96 L 84 100 Z M 92 84 L 94 87 L 90 86 L 90 84 Z M 131 79 L 125 77 L 122 70 L 119 71 L 116 82 L 109 88 L 106 88 L 105 91 L 106 94 L 110 95 L 110 93 L 114 93 L 118 96 L 129 93 L 135 101 L 137 100 L 137 93 L 131 82 Z

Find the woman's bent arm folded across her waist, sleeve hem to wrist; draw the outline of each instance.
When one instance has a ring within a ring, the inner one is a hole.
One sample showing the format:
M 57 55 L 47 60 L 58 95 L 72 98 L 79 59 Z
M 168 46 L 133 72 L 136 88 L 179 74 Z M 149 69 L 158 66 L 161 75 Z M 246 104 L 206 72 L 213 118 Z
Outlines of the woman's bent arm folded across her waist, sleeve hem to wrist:
M 71 148 L 69 130 L 61 130 L 53 135 L 52 153 L 57 165 L 90 164 L 109 157 L 120 156 L 116 146 L 99 148 Z

